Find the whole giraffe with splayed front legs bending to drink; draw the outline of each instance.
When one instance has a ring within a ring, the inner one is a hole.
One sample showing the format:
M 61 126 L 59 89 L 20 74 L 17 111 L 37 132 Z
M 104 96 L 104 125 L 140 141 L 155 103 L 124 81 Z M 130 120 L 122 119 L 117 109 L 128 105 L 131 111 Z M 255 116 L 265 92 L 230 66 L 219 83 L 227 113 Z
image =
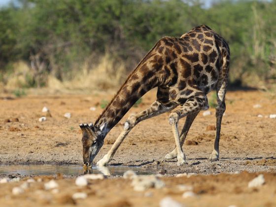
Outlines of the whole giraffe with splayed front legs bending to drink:
M 206 25 L 198 26 L 180 38 L 165 36 L 140 61 L 94 124 L 80 124 L 82 130 L 83 167 L 92 161 L 104 144 L 107 133 L 121 120 L 136 101 L 157 87 L 157 99 L 144 111 L 130 116 L 111 149 L 97 162 L 104 166 L 112 159 L 128 133 L 145 119 L 175 109 L 169 115 L 175 148 L 165 156 L 177 158 L 177 166 L 187 164 L 182 150 L 187 133 L 201 110 L 209 108 L 207 93 L 216 89 L 216 135 L 211 161 L 219 158 L 222 115 L 226 109 L 230 49 L 220 35 Z M 178 120 L 186 116 L 181 133 Z

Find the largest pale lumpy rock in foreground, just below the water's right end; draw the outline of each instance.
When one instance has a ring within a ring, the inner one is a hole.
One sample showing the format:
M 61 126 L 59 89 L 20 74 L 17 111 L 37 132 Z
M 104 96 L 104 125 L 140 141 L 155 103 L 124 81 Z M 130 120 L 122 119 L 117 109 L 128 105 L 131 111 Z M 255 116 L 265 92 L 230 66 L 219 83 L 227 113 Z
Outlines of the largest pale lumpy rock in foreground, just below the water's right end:
M 165 186 L 164 182 L 155 175 L 139 175 L 133 178 L 132 186 L 135 191 L 143 191 L 148 188 L 160 189 Z

